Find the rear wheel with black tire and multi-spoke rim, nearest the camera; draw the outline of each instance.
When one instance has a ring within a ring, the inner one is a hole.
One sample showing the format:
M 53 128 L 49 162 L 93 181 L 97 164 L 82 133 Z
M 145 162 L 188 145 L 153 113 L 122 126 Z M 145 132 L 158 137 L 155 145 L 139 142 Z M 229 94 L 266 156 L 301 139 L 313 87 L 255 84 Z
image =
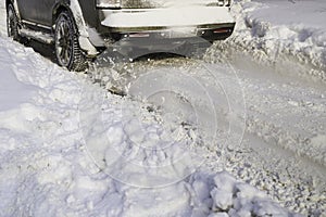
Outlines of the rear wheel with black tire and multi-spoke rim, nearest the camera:
M 54 49 L 58 64 L 68 71 L 85 71 L 88 61 L 80 49 L 78 29 L 75 21 L 67 11 L 59 14 L 55 21 Z

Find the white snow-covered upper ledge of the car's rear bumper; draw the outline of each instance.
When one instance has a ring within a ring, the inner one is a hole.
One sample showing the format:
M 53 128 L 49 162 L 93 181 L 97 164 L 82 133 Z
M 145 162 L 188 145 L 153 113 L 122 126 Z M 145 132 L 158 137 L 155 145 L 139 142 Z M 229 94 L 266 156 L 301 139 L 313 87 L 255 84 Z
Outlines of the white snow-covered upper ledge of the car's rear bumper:
M 162 30 L 162 28 L 235 23 L 228 7 L 101 10 L 101 24 L 113 31 Z

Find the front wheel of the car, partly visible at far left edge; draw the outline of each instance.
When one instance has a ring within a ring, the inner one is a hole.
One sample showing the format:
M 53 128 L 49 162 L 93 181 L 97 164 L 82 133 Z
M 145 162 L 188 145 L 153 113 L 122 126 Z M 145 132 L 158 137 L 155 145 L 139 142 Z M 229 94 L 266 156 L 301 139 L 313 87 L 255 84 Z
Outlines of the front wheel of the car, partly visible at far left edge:
M 7 8 L 7 31 L 8 37 L 13 40 L 20 41 L 20 31 L 18 31 L 18 17 L 14 10 L 14 7 L 10 3 Z

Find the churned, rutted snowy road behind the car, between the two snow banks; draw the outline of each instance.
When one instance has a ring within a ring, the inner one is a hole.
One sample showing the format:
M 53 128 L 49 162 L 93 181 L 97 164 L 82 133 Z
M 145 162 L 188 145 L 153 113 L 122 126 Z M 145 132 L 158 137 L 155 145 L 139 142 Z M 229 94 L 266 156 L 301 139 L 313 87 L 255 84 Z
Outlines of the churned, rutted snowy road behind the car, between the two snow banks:
M 97 68 L 91 77 L 105 88 L 115 79 L 165 120 L 195 125 L 212 170 L 224 168 L 292 210 L 324 210 L 326 87 L 300 77 L 308 66 L 266 66 L 243 53 L 228 58 L 154 56 L 116 71 Z

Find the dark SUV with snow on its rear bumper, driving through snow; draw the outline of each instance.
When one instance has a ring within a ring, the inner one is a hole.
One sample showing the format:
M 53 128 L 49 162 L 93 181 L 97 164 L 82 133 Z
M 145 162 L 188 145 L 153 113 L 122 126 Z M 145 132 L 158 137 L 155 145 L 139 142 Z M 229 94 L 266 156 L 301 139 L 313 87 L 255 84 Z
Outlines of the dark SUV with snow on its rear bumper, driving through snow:
M 58 64 L 85 71 L 105 48 L 172 50 L 223 40 L 231 0 L 5 0 L 8 35 L 54 44 Z

